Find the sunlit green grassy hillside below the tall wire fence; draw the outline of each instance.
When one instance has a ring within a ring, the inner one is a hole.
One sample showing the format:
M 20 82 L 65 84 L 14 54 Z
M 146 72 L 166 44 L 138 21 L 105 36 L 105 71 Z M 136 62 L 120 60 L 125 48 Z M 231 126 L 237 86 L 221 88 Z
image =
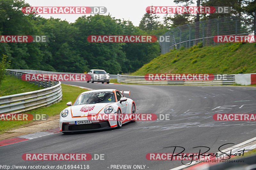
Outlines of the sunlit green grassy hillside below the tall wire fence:
M 255 43 L 223 43 L 219 46 L 181 47 L 161 54 L 131 75 L 147 73 L 256 73 Z

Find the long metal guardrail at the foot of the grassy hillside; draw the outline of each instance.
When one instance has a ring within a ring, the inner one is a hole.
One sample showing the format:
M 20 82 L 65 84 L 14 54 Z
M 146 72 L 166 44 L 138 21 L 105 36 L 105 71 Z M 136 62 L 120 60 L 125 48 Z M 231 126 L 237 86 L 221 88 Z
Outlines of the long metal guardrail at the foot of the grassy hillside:
M 229 74 L 225 76 L 227 80 L 212 80 L 212 81 L 148 81 L 144 76 L 131 76 L 117 74 L 117 82 L 137 83 L 137 84 L 163 84 L 163 85 L 228 85 L 235 83 L 235 75 Z M 214 76 L 217 78 L 217 76 Z

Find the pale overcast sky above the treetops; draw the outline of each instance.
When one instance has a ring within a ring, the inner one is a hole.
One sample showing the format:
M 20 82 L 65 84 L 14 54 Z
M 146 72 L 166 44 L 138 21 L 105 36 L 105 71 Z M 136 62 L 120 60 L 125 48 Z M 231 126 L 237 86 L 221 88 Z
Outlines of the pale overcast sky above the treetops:
M 140 20 L 146 13 L 147 6 L 177 6 L 172 0 L 25 0 L 30 6 L 104 6 L 107 13 L 112 17 L 132 21 L 133 25 L 139 26 Z M 195 5 L 191 5 L 195 6 Z M 75 20 L 84 14 L 41 14 L 44 18 L 66 19 L 68 22 Z M 85 14 L 87 16 L 91 14 Z M 165 14 L 157 14 L 163 17 Z

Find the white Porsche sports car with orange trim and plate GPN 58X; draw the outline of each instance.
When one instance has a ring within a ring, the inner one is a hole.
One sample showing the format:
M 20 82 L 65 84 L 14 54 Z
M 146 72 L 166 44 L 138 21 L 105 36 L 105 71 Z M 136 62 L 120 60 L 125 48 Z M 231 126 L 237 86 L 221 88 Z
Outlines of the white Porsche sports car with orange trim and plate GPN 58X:
M 124 94 L 130 96 L 130 91 L 100 89 L 81 93 L 73 105 L 68 102 L 69 107 L 60 112 L 60 131 L 121 128 L 124 123 L 135 122 L 135 103 Z

